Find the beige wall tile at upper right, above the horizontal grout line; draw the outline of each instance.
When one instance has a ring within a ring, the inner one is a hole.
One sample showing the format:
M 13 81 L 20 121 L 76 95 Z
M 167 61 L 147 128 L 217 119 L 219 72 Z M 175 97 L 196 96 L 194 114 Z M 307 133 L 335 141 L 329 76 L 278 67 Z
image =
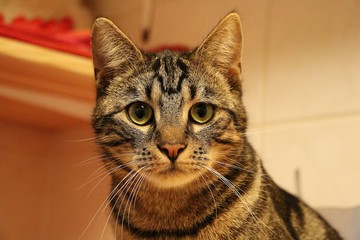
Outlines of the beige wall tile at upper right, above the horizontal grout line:
M 267 122 L 360 111 L 358 9 L 358 1 L 273 2 Z

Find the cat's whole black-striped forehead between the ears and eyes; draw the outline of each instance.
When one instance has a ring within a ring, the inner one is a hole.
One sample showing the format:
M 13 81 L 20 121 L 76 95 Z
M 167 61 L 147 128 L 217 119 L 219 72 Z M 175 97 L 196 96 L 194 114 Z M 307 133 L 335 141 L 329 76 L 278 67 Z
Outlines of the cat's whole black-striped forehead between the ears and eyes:
M 173 112 L 185 104 L 221 105 L 229 100 L 226 81 L 221 81 L 215 71 L 209 71 L 189 53 L 164 51 L 146 56 L 131 72 L 119 73 L 111 81 L 107 91 L 111 102 L 125 107 L 130 102 L 144 101 Z

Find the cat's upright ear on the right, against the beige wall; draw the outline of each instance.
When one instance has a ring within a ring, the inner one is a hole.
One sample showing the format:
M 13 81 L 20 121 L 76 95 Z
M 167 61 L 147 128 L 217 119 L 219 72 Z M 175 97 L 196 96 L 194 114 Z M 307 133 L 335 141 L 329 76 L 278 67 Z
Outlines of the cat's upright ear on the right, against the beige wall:
M 218 23 L 195 54 L 204 64 L 220 71 L 232 87 L 238 88 L 241 84 L 242 42 L 240 17 L 232 12 Z

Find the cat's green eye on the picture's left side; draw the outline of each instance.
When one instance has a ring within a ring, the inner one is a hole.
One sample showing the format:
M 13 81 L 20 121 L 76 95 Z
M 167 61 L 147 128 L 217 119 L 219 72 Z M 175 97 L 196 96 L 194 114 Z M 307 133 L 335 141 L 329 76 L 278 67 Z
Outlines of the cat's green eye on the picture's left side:
M 143 126 L 151 122 L 153 110 L 146 103 L 136 102 L 128 108 L 128 116 L 133 123 Z

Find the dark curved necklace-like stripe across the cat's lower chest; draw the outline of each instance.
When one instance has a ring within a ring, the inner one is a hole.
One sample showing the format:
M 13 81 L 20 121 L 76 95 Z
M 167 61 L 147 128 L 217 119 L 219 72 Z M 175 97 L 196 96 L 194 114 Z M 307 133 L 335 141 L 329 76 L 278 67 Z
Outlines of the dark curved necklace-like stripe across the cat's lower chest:
M 225 176 L 226 179 L 228 179 L 229 181 L 233 181 L 234 179 L 236 179 L 240 174 L 242 173 L 242 171 L 239 168 L 233 168 L 232 171 L 227 174 Z M 248 174 L 247 177 L 240 181 L 239 184 L 235 185 L 236 189 L 241 189 L 240 192 L 241 194 L 246 193 L 250 187 L 251 187 L 251 183 L 254 181 L 254 174 Z M 215 184 L 213 184 L 212 189 L 211 190 L 215 190 L 216 185 L 223 185 L 222 189 L 223 191 L 221 191 L 219 193 L 220 196 L 224 196 L 226 195 L 226 192 L 232 191 L 231 189 L 229 189 L 223 182 L 221 182 L 221 180 L 219 179 Z M 208 192 L 208 189 L 204 189 L 205 193 L 201 193 L 200 195 L 203 196 L 203 194 L 206 194 L 206 192 Z M 176 230 L 144 230 L 144 229 L 140 229 L 137 227 L 134 227 L 130 222 L 128 222 L 126 219 L 123 219 L 123 216 L 121 214 L 121 212 L 119 212 L 118 207 L 116 206 L 114 208 L 114 210 L 116 211 L 116 215 L 118 216 L 118 221 L 123 221 L 123 227 L 126 227 L 128 229 L 128 231 L 136 236 L 142 237 L 142 238 L 156 238 L 156 237 L 176 237 L 176 238 L 181 238 L 181 237 L 186 237 L 186 236 L 195 236 L 197 235 L 202 229 L 204 229 L 206 226 L 212 224 L 214 222 L 214 220 L 216 218 L 218 218 L 218 216 L 220 214 L 222 214 L 223 212 L 225 212 L 226 210 L 228 210 L 229 208 L 231 208 L 231 206 L 236 202 L 236 201 L 241 201 L 239 200 L 238 196 L 236 196 L 236 194 L 231 193 L 228 194 L 228 197 L 225 198 L 220 204 L 217 204 L 218 207 L 217 209 L 214 209 L 212 213 L 210 213 L 209 215 L 204 217 L 204 220 L 201 222 L 197 222 L 193 224 L 193 227 L 188 228 L 188 229 L 176 229 Z M 111 202 L 112 206 L 114 206 L 115 202 Z

